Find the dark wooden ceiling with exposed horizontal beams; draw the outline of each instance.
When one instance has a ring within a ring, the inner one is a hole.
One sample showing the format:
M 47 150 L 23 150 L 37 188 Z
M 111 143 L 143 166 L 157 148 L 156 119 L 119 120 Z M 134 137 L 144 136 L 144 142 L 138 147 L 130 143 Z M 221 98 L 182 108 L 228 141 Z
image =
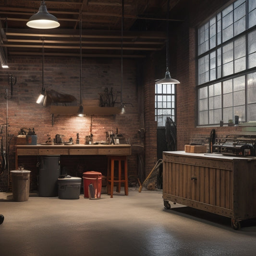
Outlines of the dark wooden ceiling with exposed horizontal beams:
M 180 0 L 170 0 L 176 6 Z M 31 29 L 29 17 L 38 11 L 40 0 L 0 0 L 0 23 L 4 37 L 0 42 L 12 54 L 39 55 L 44 38 L 45 48 L 54 56 L 79 55 L 79 22 L 82 21 L 83 56 L 142 58 L 166 45 L 167 0 L 124 1 L 124 31 L 121 33 L 121 0 L 47 0 L 49 13 L 61 23 L 60 28 Z M 176 15 L 176 17 L 184 16 Z M 154 22 L 156 21 L 156 22 Z M 172 20 L 178 21 L 181 20 Z M 123 40 L 123 41 L 122 41 Z M 121 43 L 122 42 L 122 43 Z M 28 52 L 28 53 L 27 53 Z M 46 53 L 47 54 L 47 53 Z M 62 55 L 63 54 L 63 55 Z M 77 55 L 78 54 L 78 55 Z M 79 57 L 79 56 L 78 56 Z

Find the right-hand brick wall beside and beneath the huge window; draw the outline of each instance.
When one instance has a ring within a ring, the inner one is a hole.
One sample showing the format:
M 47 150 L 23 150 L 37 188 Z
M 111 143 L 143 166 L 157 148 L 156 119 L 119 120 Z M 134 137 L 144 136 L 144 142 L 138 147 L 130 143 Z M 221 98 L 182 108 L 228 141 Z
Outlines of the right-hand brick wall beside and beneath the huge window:
M 229 0 L 200 1 L 188 3 L 187 19 L 177 26 L 176 54 L 177 74 L 181 82 L 177 85 L 177 150 L 184 150 L 194 134 L 209 135 L 212 128 L 217 134 L 231 134 L 240 131 L 240 127 L 196 127 L 196 26 L 214 14 Z M 174 69 L 172 69 L 173 71 Z

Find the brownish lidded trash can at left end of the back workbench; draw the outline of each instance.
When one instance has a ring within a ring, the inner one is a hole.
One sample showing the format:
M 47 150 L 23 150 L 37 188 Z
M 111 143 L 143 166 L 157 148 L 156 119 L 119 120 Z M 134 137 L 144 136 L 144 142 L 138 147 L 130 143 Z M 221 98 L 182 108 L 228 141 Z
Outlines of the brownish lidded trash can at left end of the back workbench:
M 11 171 L 12 196 L 14 201 L 23 202 L 28 200 L 30 172 L 27 170 Z

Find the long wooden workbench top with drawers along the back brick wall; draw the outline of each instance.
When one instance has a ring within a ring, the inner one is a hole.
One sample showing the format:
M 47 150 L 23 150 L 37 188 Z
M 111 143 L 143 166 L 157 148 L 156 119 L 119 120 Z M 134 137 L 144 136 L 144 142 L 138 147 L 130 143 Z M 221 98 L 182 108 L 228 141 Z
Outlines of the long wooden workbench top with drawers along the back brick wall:
M 15 166 L 18 168 L 19 156 L 44 156 L 44 155 L 131 155 L 131 145 L 16 145 Z

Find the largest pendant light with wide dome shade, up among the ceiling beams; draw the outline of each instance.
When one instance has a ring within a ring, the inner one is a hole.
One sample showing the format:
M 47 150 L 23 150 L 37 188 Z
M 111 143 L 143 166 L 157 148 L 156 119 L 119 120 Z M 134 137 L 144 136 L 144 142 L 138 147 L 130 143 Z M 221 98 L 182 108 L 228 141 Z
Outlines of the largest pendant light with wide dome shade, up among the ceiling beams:
M 59 27 L 60 23 L 55 16 L 47 11 L 45 1 L 41 1 L 39 11 L 29 18 L 27 26 L 32 28 L 48 29 Z

